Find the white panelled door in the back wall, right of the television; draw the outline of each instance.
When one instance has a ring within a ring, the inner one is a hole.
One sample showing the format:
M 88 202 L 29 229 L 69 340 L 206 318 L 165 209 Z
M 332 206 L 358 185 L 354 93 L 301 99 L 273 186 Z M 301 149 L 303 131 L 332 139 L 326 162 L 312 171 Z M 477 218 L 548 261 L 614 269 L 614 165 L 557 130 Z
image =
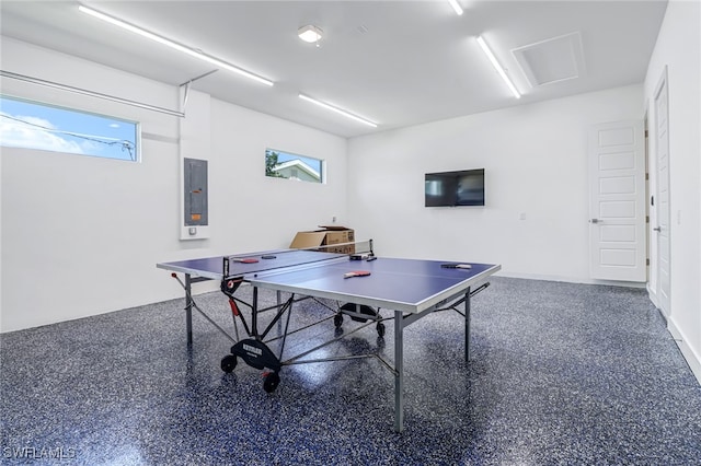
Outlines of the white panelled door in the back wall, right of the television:
M 589 129 L 589 275 L 647 280 L 642 120 Z

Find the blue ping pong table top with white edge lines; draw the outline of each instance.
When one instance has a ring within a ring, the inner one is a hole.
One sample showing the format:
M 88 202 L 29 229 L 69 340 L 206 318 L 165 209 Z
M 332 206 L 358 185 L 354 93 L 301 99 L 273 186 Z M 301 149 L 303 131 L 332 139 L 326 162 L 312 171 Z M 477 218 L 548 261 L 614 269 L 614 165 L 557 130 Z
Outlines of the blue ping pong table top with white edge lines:
M 263 259 L 262 256 L 275 256 Z M 291 293 L 329 298 L 356 304 L 418 313 L 464 293 L 501 269 L 498 265 L 463 261 L 401 259 L 349 260 L 346 255 L 281 249 L 232 257 L 254 258 L 254 264 L 232 263 L 229 277 L 243 277 L 253 286 Z M 223 257 L 159 264 L 159 268 L 221 280 Z M 471 268 L 444 268 L 444 264 L 470 264 Z M 367 277 L 345 278 L 350 271 Z

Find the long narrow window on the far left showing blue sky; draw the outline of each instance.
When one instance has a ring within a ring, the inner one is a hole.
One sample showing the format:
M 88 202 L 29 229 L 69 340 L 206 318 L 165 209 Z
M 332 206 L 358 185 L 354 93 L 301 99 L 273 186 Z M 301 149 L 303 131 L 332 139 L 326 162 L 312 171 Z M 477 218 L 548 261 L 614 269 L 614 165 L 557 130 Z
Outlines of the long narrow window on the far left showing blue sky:
M 0 145 L 138 160 L 134 121 L 0 96 Z

